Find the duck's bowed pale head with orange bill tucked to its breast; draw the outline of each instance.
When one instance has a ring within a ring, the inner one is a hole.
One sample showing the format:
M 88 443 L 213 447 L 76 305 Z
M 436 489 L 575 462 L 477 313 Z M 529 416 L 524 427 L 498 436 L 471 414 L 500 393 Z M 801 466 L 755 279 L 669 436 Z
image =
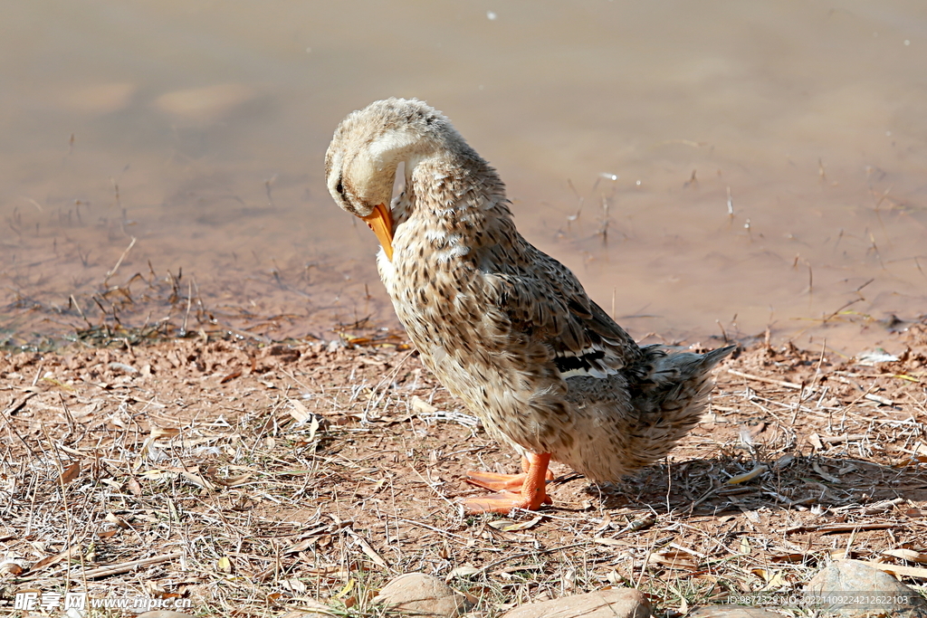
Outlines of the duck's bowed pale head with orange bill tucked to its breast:
M 338 125 L 325 153 L 325 182 L 335 203 L 366 221 L 392 259 L 389 203 L 400 162 L 408 170 L 418 159 L 461 144 L 434 107 L 417 99 L 376 101 Z

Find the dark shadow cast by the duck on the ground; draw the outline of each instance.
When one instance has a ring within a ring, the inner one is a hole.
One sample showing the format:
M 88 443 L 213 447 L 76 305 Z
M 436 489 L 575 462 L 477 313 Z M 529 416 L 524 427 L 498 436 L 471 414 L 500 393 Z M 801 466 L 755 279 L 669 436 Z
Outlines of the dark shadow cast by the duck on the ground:
M 730 482 L 751 471 L 756 476 Z M 721 456 L 652 465 L 617 483 L 587 483 L 585 492 L 604 509 L 644 507 L 696 516 L 761 508 L 833 509 L 895 498 L 927 500 L 927 470 L 917 462 L 894 467 L 851 457 L 795 455 L 764 461 Z

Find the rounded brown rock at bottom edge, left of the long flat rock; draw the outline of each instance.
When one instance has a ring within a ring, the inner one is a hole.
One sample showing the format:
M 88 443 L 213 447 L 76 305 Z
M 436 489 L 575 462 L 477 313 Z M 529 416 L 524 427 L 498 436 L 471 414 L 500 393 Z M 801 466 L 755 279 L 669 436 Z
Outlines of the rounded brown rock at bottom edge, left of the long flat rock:
M 455 618 L 470 602 L 451 586 L 424 573 L 407 573 L 390 581 L 374 599 L 420 618 Z

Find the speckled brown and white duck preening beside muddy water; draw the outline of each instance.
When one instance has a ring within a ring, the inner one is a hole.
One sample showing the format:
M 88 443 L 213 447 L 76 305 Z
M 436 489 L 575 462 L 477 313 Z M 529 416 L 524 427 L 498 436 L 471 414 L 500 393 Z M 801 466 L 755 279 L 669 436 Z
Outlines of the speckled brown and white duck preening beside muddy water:
M 337 206 L 375 233 L 377 271 L 425 367 L 521 455 L 521 473 L 467 473 L 493 493 L 464 511 L 538 511 L 552 504 L 551 460 L 614 482 L 698 423 L 735 346 L 639 346 L 518 232 L 497 171 L 434 107 L 387 98 L 350 113 L 324 166 Z

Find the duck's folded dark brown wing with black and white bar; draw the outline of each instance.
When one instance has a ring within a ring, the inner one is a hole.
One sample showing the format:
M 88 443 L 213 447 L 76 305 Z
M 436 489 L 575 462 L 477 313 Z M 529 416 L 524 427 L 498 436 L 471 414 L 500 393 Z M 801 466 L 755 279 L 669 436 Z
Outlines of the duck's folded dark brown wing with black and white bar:
M 641 359 L 631 336 L 586 294 L 576 275 L 518 238 L 493 274 L 494 303 L 511 334 L 543 343 L 562 378 L 605 377 Z

